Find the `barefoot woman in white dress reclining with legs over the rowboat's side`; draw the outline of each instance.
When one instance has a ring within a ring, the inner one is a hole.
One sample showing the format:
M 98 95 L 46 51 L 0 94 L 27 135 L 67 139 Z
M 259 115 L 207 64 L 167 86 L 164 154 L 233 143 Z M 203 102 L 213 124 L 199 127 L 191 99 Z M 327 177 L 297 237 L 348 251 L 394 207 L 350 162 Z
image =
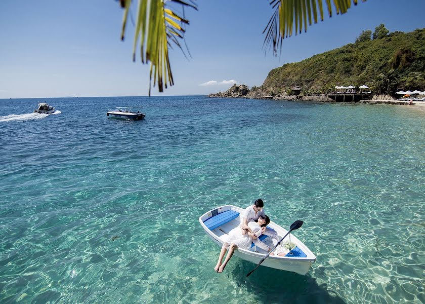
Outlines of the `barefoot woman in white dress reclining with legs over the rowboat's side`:
M 249 248 L 251 248 L 252 239 L 257 239 L 266 230 L 266 226 L 269 223 L 270 218 L 267 215 L 260 215 L 257 222 L 251 221 L 248 223 L 247 233 L 245 235 L 242 235 L 242 229 L 240 226 L 232 229 L 227 236 L 223 237 L 225 243 L 222 246 L 219 260 L 214 270 L 218 273 L 222 273 L 236 248 L 249 250 Z M 260 240 L 256 242 L 256 245 L 266 250 L 271 249 Z M 227 253 L 226 259 L 222 263 L 227 249 L 229 249 L 229 252 Z

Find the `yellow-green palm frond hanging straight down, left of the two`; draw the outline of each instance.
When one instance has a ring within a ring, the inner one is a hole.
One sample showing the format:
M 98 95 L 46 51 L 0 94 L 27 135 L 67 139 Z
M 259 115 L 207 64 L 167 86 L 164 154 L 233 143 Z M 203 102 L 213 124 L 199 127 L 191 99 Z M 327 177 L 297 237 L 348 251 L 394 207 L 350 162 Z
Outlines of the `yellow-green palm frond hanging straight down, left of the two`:
M 131 3 L 132 0 L 120 0 L 120 5 L 124 9 L 122 40 L 124 39 L 125 25 Z M 171 7 L 173 3 L 197 9 L 194 0 L 139 0 L 133 41 L 133 61 L 136 60 L 136 49 L 140 39 L 141 61 L 151 65 L 149 70 L 149 96 L 152 79 L 153 86 L 158 85 L 159 92 L 163 92 L 167 85 L 174 85 L 168 57 L 168 49 L 171 48 L 171 43 L 177 45 L 183 51 L 178 39 L 184 38 L 184 24 L 189 24 L 189 21 L 181 17 Z

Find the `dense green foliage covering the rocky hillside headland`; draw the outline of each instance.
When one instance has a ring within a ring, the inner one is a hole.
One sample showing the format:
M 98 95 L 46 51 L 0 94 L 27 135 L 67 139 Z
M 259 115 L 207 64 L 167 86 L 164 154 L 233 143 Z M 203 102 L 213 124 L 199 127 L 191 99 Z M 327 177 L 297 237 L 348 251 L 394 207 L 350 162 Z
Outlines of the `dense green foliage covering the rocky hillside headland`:
M 374 40 L 348 44 L 271 70 L 263 87 L 276 91 L 301 86 L 304 92 L 326 93 L 336 85 L 366 84 L 375 93 L 425 91 L 425 29 L 396 31 L 381 39 L 378 36 L 385 33 L 385 26 L 376 29 Z

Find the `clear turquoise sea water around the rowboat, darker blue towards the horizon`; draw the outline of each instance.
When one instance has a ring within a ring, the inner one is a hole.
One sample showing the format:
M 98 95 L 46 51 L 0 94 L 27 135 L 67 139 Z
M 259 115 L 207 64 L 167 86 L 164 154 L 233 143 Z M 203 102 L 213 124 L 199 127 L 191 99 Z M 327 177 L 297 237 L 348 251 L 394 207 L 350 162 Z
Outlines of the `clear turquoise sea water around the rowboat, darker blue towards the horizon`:
M 204 97 L 0 100 L 0 302 L 425 302 L 425 115 Z M 9 105 L 13 104 L 12 110 Z M 108 119 L 144 105 L 144 121 Z M 11 116 L 11 115 L 17 115 Z M 307 276 L 234 257 L 198 217 L 249 205 L 317 255 Z M 110 240 L 112 236 L 117 240 Z

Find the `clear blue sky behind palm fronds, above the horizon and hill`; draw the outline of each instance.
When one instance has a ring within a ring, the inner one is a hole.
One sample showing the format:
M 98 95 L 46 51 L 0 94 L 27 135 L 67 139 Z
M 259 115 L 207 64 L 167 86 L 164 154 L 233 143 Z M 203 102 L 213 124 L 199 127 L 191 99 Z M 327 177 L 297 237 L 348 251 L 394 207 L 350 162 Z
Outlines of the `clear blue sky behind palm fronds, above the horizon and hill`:
M 232 81 L 259 86 L 271 69 L 352 43 L 379 23 L 390 31 L 425 27 L 423 0 L 359 1 L 347 14 L 285 39 L 274 57 L 262 50 L 273 13 L 267 0 L 199 0 L 198 6 L 186 9 L 193 58 L 171 52 L 175 86 L 162 95 L 225 91 Z M 0 1 L 0 98 L 146 96 L 149 66 L 132 61 L 131 23 L 120 41 L 121 19 L 114 0 Z M 160 95 L 156 88 L 152 93 Z

